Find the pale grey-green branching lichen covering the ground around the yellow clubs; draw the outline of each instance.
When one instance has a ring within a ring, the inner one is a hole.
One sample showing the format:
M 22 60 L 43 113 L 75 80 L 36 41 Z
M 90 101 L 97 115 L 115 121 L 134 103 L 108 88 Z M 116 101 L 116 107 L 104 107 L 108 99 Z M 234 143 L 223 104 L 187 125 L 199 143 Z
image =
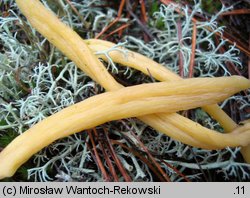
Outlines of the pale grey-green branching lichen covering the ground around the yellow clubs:
M 100 0 L 72 1 L 81 18 L 65 1 L 44 1 L 44 3 L 84 39 L 93 38 L 95 33 L 100 32 L 117 16 L 116 10 L 98 6 L 103 3 Z M 40 36 L 21 17 L 14 1 L 3 1 L 3 4 L 8 4 L 10 10 L 7 16 L 2 15 L 0 18 L 0 46 L 2 45 L 0 49 L 0 147 L 6 146 L 6 142 L 5 144 L 1 142 L 3 137 L 13 133 L 18 135 L 45 117 L 104 91 Z M 177 73 L 179 73 L 178 60 L 181 51 L 184 76 L 187 77 L 192 47 L 191 18 L 195 13 L 202 13 L 202 11 L 200 2 L 195 3 L 192 13 L 188 13 L 188 9 L 183 8 L 184 15 L 181 17 L 174 9 L 174 5 L 161 5 L 149 17 L 150 32 L 154 35 L 154 40 L 145 43 L 143 38 L 129 34 L 130 31 L 128 31 L 118 45 L 145 54 Z M 221 39 L 219 45 L 214 43 L 215 32 L 223 33 L 223 27 L 217 26 L 216 19 L 227 9 L 229 8 L 223 7 L 208 21 L 197 23 L 197 46 L 199 47 L 195 51 L 195 76 L 230 75 L 225 67 L 226 62 L 234 63 L 239 69 L 242 67 L 238 59 L 239 51 L 235 46 L 231 46 L 224 54 L 220 54 L 219 47 L 225 45 L 226 41 Z M 122 17 L 120 21 L 127 22 L 128 19 Z M 130 22 L 135 23 L 132 20 Z M 181 44 L 177 33 L 178 23 L 181 24 Z M 133 32 L 140 32 L 138 27 L 132 27 Z M 206 27 L 210 27 L 213 31 L 208 31 Z M 108 56 L 107 68 L 114 75 L 123 76 L 129 82 L 128 84 L 154 80 L 146 78 L 133 69 L 119 67 L 112 62 L 108 52 L 99 52 Z M 126 54 L 126 51 L 124 53 Z M 233 96 L 221 105 L 224 107 L 231 101 L 236 101 L 238 108 L 243 112 L 250 104 L 249 92 L 247 94 Z M 197 109 L 192 112 L 193 120 L 206 127 L 221 130 L 218 123 L 202 110 Z M 244 116 L 243 120 L 249 118 L 250 114 L 242 114 L 242 116 Z M 204 180 L 204 171 L 207 173 L 210 170 L 221 173 L 225 180 L 249 179 L 250 165 L 236 161 L 240 148 L 217 151 L 190 148 L 155 132 L 138 120 L 128 119 L 127 123 L 152 151 L 172 181 L 180 181 L 183 178 L 160 159 L 186 173 L 187 178 L 192 181 Z M 107 123 L 105 128 L 120 142 L 126 145 L 133 144 L 135 147 L 138 145 L 129 134 L 129 130 L 120 122 Z M 27 179 L 31 181 L 102 181 L 100 170 L 93 165 L 95 161 L 88 148 L 88 142 L 88 134 L 83 132 L 64 138 L 43 149 L 34 156 L 33 168 L 28 170 Z M 145 163 L 119 145 L 114 145 L 114 148 L 134 181 L 154 181 L 154 176 Z M 98 143 L 97 149 L 100 149 Z M 101 152 L 100 155 L 104 159 Z M 119 176 L 123 181 L 122 176 Z

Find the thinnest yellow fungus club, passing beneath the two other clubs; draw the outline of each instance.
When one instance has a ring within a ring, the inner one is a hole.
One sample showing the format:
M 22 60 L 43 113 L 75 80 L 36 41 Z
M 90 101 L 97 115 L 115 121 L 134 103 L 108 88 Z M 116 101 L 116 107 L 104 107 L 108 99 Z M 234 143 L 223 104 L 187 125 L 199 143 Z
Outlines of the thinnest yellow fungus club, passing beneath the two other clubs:
M 115 46 L 114 43 L 98 39 L 88 39 L 85 40 L 85 43 L 93 52 L 107 51 L 111 48 L 114 48 Z M 139 53 L 127 49 L 126 51 L 126 55 L 118 50 L 110 51 L 109 56 L 115 63 L 137 69 L 146 75 L 149 75 L 150 71 L 150 74 L 159 81 L 168 82 L 182 80 L 180 76 L 168 70 L 166 67 L 160 65 L 159 63 L 156 63 L 155 61 Z M 103 60 L 108 61 L 105 55 L 98 56 Z M 221 126 L 223 126 L 225 131 L 230 132 L 237 127 L 237 124 L 218 105 L 203 106 L 202 108 L 217 122 L 219 122 Z

